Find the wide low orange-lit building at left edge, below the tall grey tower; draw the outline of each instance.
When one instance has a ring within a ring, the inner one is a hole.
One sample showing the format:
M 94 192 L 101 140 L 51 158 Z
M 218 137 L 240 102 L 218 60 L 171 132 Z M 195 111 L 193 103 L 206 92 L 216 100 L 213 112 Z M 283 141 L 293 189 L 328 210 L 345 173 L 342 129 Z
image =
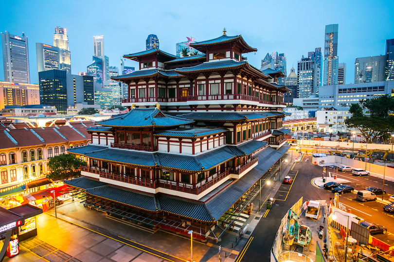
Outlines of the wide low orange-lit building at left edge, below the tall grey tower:
M 0 82 L 0 110 L 11 105 L 38 105 L 40 89 L 38 84 Z

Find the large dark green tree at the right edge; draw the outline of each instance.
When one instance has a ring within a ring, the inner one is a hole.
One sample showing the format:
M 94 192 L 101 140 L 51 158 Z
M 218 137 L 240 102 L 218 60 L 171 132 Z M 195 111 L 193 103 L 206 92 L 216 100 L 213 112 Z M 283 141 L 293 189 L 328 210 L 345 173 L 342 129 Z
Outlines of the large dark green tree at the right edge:
M 368 115 L 363 113 L 365 109 Z M 376 138 L 390 139 L 394 130 L 394 98 L 386 95 L 374 99 L 361 99 L 359 104 L 352 104 L 349 112 L 352 117 L 345 120 L 349 129 L 356 129 L 367 141 L 372 143 Z

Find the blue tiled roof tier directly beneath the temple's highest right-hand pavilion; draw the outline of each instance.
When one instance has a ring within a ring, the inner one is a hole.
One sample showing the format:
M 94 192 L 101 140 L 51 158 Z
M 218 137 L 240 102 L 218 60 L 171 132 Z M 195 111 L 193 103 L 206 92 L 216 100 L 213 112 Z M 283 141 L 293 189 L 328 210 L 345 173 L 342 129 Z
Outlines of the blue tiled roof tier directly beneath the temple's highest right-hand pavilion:
M 230 69 L 241 68 L 246 64 L 248 63 L 245 61 L 238 62 L 230 59 L 230 60 L 216 61 L 216 62 L 205 62 L 197 66 L 180 67 L 180 68 L 176 68 L 175 71 L 178 72 L 179 74 L 186 74 L 193 72 L 205 72 L 205 71 L 208 72 L 213 70 L 216 71 L 220 69 L 230 70 Z

